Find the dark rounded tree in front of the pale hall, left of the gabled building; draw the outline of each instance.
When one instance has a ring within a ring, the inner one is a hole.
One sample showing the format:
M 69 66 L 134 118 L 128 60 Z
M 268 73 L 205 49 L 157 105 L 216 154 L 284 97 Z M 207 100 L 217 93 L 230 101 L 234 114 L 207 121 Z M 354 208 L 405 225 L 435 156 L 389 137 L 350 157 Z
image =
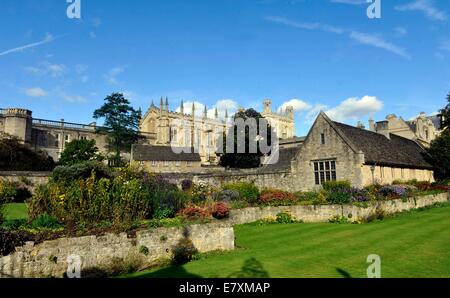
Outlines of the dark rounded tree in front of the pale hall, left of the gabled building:
M 257 124 L 257 136 L 260 135 L 260 123 L 259 119 L 264 118 L 260 113 L 255 111 L 254 109 L 248 109 L 245 111 L 239 111 L 234 116 L 233 119 L 236 121 L 236 119 L 243 119 L 244 121 L 250 118 L 253 118 L 256 120 Z M 227 150 L 227 142 L 226 138 L 227 135 L 224 134 L 224 143 L 223 143 L 223 154 L 220 154 L 220 165 L 223 167 L 230 167 L 230 168 L 242 168 L 242 169 L 248 169 L 248 168 L 257 168 L 261 165 L 261 157 L 263 156 L 263 153 L 261 152 L 261 146 L 260 146 L 260 140 L 257 141 L 257 152 L 256 153 L 250 153 L 250 128 L 248 126 L 245 126 L 245 131 L 239 131 L 238 132 L 238 125 L 234 124 L 232 127 L 230 127 L 230 130 L 228 132 L 228 136 L 234 135 L 234 147 L 233 150 Z M 233 132 L 234 131 L 234 132 Z M 245 153 L 237 153 L 238 152 L 238 135 L 245 133 Z M 267 124 L 267 137 L 268 138 L 268 145 L 270 146 L 271 138 L 272 138 L 272 129 L 269 124 Z M 254 141 L 254 140 L 252 140 Z M 231 148 L 230 148 L 231 149 Z M 227 152 L 231 151 L 231 152 Z

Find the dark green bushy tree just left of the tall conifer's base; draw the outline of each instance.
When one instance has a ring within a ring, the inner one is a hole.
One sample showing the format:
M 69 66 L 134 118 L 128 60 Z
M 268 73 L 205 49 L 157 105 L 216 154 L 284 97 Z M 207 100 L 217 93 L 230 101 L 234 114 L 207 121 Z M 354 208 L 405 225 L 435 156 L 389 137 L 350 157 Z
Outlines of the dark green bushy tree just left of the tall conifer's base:
M 71 166 L 89 160 L 102 160 L 102 156 L 95 146 L 95 140 L 73 140 L 66 145 L 61 153 L 59 164 Z

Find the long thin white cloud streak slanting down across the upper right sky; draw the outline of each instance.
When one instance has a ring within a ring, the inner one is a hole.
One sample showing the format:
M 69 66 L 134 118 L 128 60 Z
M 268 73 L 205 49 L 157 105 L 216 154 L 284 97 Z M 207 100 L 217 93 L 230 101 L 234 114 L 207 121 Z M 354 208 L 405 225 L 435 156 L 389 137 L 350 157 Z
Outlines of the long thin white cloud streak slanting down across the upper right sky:
M 376 48 L 380 48 L 386 51 L 389 51 L 391 53 L 394 53 L 398 56 L 401 56 L 403 58 L 410 59 L 411 56 L 408 54 L 408 52 L 397 45 L 394 45 L 386 40 L 384 40 L 382 37 L 377 35 L 372 35 L 368 33 L 361 33 L 357 32 L 355 30 L 348 30 L 340 27 L 331 26 L 328 24 L 322 24 L 322 23 L 300 23 L 296 21 L 292 21 L 283 17 L 277 17 L 277 16 L 271 16 L 271 17 L 265 17 L 264 18 L 267 21 L 275 22 L 279 24 L 283 24 L 286 26 L 299 28 L 299 29 L 306 29 L 306 30 L 321 30 L 324 32 L 329 33 L 335 33 L 335 34 L 348 34 L 348 37 L 358 43 L 373 46 Z

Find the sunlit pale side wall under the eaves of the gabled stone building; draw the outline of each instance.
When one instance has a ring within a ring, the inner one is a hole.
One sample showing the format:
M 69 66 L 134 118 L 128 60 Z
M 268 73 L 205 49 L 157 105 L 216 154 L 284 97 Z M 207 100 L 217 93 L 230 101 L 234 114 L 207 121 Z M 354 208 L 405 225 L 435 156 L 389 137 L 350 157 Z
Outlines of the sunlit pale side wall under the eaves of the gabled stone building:
M 392 184 L 395 180 L 409 181 L 413 179 L 417 181 L 435 181 L 432 170 L 376 166 L 372 176 L 371 166 L 369 165 L 362 167 L 362 176 L 364 186 L 371 185 L 374 181 L 380 184 Z

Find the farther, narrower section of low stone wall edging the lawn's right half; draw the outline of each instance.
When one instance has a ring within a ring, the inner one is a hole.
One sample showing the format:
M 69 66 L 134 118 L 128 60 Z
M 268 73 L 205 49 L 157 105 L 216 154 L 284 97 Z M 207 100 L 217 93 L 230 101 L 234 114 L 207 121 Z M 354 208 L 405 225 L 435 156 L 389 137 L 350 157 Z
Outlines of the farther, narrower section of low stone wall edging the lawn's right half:
M 283 207 L 255 207 L 239 210 L 231 210 L 229 224 L 245 224 L 255 222 L 268 217 L 275 217 L 280 212 L 288 211 L 297 220 L 304 222 L 328 222 L 333 216 L 346 216 L 352 219 L 365 219 L 374 214 L 377 208 L 385 214 L 393 214 L 411 209 L 430 206 L 435 203 L 446 202 L 449 194 L 428 195 L 406 200 L 391 200 L 379 202 L 367 208 L 352 205 L 321 205 L 321 206 L 283 206 Z

